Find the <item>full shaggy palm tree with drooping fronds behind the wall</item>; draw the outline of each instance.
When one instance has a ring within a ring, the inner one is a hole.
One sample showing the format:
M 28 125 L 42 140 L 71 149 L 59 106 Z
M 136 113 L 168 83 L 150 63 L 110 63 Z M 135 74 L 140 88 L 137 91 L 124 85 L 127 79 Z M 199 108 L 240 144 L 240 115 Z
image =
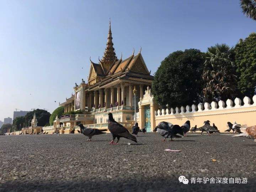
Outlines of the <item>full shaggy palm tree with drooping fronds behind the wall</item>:
M 236 75 L 234 49 L 226 44 L 209 47 L 202 73 L 203 95 L 206 101 L 226 100 L 234 96 Z

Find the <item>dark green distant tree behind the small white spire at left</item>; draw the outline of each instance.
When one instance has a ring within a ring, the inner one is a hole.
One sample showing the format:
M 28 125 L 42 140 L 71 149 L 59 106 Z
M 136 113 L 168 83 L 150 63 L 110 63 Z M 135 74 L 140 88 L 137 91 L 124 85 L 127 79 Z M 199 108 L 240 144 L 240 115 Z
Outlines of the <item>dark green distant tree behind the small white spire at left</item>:
M 26 126 L 28 126 L 28 122 L 29 122 L 29 126 L 31 126 L 31 120 L 33 119 L 34 113 L 36 113 L 36 117 L 37 117 L 37 126 L 44 126 L 45 124 L 49 123 L 49 119 L 50 119 L 50 113 L 46 110 L 41 110 L 41 109 L 37 109 L 31 112 L 28 112 L 25 116 L 25 124 Z

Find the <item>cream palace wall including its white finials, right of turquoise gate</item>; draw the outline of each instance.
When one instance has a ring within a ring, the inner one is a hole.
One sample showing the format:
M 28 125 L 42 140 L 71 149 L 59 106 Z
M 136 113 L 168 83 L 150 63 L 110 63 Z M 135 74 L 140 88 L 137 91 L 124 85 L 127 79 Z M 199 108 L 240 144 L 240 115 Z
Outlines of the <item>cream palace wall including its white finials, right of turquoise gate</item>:
M 228 99 L 226 102 L 219 101 L 212 103 L 199 103 L 198 105 L 187 105 L 186 107 L 176 107 L 170 110 L 162 109 L 155 112 L 155 124 L 161 121 L 179 124 L 180 126 L 190 120 L 191 127 L 203 126 L 203 122 L 209 120 L 218 127 L 220 132 L 227 129 L 227 122 L 246 124 L 247 126 L 256 125 L 256 95 L 251 99 L 244 97 L 243 105 L 240 98 L 236 98 L 234 103 Z M 225 105 L 226 104 L 226 105 Z M 153 130 L 153 127 L 151 127 Z

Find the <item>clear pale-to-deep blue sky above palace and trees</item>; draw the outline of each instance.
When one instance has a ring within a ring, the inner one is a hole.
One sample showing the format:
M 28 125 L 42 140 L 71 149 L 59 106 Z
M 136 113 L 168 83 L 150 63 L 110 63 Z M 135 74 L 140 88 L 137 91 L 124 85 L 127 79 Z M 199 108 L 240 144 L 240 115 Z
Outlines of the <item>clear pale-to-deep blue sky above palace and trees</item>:
M 89 57 L 103 55 L 109 17 L 117 57 L 142 46 L 152 73 L 171 52 L 234 46 L 256 31 L 239 0 L 0 0 L 0 120 L 70 97 Z

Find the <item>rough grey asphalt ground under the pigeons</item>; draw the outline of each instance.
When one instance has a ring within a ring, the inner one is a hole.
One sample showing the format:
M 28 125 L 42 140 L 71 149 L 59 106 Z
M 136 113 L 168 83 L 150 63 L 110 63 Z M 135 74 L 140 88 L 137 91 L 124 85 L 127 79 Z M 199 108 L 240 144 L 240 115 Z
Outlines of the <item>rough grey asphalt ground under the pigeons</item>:
M 139 136 L 137 145 L 124 138 L 109 145 L 110 134 L 92 142 L 82 134 L 0 136 L 0 191 L 255 191 L 253 139 Z M 188 185 L 179 183 L 181 175 Z M 191 184 L 191 177 L 246 177 L 247 183 Z

